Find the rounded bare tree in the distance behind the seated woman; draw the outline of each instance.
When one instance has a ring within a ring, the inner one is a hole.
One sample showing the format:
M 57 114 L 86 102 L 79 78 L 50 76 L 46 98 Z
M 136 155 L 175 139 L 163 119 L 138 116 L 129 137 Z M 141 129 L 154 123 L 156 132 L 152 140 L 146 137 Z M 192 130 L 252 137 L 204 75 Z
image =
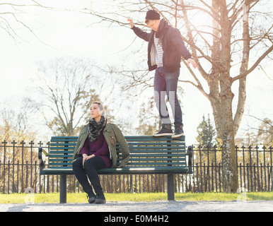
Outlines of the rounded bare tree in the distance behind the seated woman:
M 58 58 L 46 64 L 40 63 L 38 71 L 38 91 L 44 98 L 43 114 L 54 134 L 76 135 L 79 126 L 83 126 L 90 117 L 88 110 L 93 101 L 105 100 L 105 105 L 108 103 L 106 100 L 110 102 L 105 95 L 112 93 L 111 85 L 90 61 Z M 100 95 L 102 90 L 104 95 Z

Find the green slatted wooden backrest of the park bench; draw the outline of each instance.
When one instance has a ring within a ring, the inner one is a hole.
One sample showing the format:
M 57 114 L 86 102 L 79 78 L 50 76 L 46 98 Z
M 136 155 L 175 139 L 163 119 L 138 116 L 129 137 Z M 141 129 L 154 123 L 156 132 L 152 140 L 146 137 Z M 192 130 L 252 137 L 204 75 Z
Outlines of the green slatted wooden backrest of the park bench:
M 77 136 L 52 136 L 50 140 L 49 167 L 71 167 Z M 127 167 L 185 167 L 185 136 L 125 136 L 129 145 L 130 160 Z M 122 159 L 117 143 L 117 162 Z

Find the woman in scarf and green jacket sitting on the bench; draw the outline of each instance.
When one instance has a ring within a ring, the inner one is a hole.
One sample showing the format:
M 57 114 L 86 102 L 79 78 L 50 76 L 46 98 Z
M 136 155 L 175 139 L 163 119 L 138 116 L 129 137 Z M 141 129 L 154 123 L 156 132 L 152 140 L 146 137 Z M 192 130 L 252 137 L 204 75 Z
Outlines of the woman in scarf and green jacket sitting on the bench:
M 103 105 L 100 102 L 93 102 L 91 119 L 81 129 L 74 150 L 72 167 L 83 191 L 88 194 L 88 203 L 105 203 L 97 170 L 124 167 L 129 161 L 129 148 L 122 132 L 115 124 L 108 123 L 104 114 Z M 116 142 L 122 149 L 122 161 L 119 165 L 117 165 Z

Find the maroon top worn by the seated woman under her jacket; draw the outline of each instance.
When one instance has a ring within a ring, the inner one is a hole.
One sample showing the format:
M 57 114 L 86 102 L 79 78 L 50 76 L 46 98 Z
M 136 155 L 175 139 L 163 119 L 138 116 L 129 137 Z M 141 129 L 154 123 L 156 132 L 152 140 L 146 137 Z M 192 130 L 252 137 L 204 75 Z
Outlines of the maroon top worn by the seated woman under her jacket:
M 81 155 L 83 154 L 99 156 L 105 162 L 106 168 L 110 168 L 112 166 L 108 143 L 103 136 L 103 131 L 101 131 L 100 136 L 94 142 L 91 142 L 88 138 L 86 138 L 86 141 L 81 148 Z

